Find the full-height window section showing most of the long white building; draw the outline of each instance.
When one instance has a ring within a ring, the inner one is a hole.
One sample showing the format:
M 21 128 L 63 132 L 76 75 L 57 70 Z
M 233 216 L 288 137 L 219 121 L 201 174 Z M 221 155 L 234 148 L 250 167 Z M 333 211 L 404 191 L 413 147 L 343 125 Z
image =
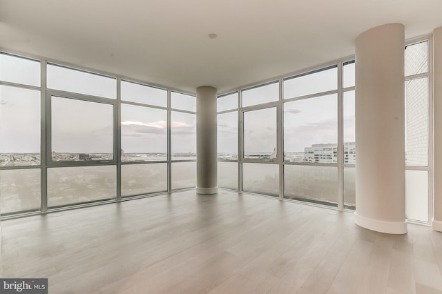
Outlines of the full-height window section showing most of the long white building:
M 283 83 L 284 197 L 338 206 L 338 66 Z

